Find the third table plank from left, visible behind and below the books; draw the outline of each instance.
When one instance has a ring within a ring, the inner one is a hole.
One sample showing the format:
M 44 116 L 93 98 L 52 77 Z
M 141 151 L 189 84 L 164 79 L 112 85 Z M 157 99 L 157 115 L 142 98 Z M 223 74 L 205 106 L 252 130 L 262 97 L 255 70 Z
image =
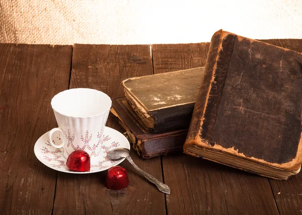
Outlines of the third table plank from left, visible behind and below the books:
M 195 50 L 189 52 L 183 45 L 188 44 L 153 45 L 154 73 L 204 65 L 200 47 L 208 50 L 208 43 L 190 44 Z M 188 63 L 190 53 L 200 64 Z M 267 178 L 186 155 L 162 159 L 164 180 L 172 190 L 166 196 L 168 214 L 278 214 Z

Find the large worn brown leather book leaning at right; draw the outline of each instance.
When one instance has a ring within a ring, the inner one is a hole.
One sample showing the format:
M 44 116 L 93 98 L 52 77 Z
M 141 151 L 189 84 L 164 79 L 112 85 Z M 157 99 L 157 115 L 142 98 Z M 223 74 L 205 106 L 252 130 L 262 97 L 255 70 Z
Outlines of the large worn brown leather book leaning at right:
M 184 152 L 287 179 L 302 162 L 302 54 L 217 31 Z

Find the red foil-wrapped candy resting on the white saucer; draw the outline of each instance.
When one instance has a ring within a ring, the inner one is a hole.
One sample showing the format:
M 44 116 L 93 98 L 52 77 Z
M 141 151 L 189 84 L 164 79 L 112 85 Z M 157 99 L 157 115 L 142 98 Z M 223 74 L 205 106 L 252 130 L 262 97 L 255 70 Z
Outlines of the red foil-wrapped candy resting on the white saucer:
M 90 156 L 83 150 L 76 150 L 68 156 L 66 165 L 70 170 L 87 172 L 90 170 Z

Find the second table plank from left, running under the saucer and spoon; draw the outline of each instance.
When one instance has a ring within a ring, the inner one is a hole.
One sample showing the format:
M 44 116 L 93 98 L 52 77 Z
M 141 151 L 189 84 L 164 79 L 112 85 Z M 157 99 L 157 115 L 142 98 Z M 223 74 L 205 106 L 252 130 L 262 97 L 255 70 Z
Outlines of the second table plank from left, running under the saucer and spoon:
M 70 88 L 93 88 L 113 98 L 123 95 L 123 79 L 151 74 L 149 45 L 74 45 Z M 107 126 L 122 131 L 112 116 Z M 131 157 L 162 180 L 160 158 L 142 161 L 133 151 Z M 53 214 L 166 214 L 164 194 L 127 161 L 121 166 L 128 171 L 130 185 L 119 191 L 106 188 L 107 171 L 80 176 L 59 173 Z

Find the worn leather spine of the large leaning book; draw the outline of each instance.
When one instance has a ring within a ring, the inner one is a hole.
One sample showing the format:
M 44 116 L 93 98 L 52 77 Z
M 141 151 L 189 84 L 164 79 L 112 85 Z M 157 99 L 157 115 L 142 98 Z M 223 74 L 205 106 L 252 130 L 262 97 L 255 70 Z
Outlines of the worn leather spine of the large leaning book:
M 199 135 L 202 141 L 214 145 L 211 141 L 216 115 L 219 109 L 229 62 L 234 50 L 236 35 L 222 30 L 217 31 L 211 39 L 205 65 L 205 76 L 202 79 L 192 115 L 185 148 Z M 223 55 L 225 57 L 219 58 Z M 219 75 L 217 75 L 219 74 Z M 194 142 L 194 141 L 193 141 Z

